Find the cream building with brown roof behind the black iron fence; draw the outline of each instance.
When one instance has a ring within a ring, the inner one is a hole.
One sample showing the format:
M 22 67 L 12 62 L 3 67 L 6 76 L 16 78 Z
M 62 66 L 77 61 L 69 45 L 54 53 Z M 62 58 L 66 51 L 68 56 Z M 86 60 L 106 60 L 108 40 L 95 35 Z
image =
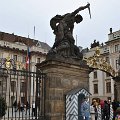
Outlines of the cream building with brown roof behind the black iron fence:
M 38 40 L 21 37 L 14 34 L 0 32 L 0 67 L 2 67 L 2 60 L 5 58 L 14 60 L 16 63 L 21 63 L 17 66 L 18 70 L 26 69 L 27 52 L 29 47 L 30 53 L 30 71 L 36 72 L 36 63 L 40 63 L 46 59 L 46 54 L 50 50 L 50 46 Z M 0 95 L 4 96 L 7 100 L 7 105 L 11 106 L 15 101 L 16 93 L 20 91 L 18 101 L 23 101 L 25 92 L 24 79 L 14 79 L 11 76 L 10 80 L 6 80 L 7 74 L 0 72 Z

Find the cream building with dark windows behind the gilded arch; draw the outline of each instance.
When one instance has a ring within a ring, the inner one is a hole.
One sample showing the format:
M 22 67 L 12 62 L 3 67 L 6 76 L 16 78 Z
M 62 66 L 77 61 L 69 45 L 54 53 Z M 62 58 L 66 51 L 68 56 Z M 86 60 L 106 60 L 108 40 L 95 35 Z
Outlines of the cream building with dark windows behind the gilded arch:
M 120 53 L 120 30 L 112 31 L 108 34 L 108 40 L 105 44 L 93 45 L 84 57 L 89 58 L 94 56 L 96 47 L 99 47 L 101 58 L 109 63 L 115 70 L 115 75 L 118 75 L 118 60 Z M 94 70 L 89 74 L 89 91 L 92 94 L 92 99 L 111 100 L 115 99 L 116 84 L 113 78 L 106 72 L 101 70 Z

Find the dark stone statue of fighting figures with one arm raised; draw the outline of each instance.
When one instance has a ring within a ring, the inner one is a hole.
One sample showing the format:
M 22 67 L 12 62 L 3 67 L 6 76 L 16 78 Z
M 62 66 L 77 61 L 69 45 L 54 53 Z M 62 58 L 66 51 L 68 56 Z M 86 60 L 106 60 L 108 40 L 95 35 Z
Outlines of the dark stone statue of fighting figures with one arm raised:
M 50 26 L 55 34 L 55 43 L 52 50 L 58 54 L 67 57 L 79 57 L 82 59 L 82 54 L 79 53 L 79 48 L 74 45 L 75 40 L 73 37 L 74 23 L 80 23 L 83 17 L 78 14 L 86 8 L 89 9 L 90 4 L 81 6 L 72 13 L 65 15 L 56 15 L 50 20 Z

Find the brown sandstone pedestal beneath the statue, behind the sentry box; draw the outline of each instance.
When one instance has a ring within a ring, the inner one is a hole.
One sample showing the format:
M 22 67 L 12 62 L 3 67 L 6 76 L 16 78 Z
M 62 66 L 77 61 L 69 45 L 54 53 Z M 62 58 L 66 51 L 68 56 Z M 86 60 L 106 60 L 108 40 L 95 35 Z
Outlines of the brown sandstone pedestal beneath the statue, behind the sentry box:
M 37 68 L 47 74 L 45 85 L 45 116 L 47 120 L 63 120 L 65 94 L 77 87 L 88 90 L 89 69 L 83 61 L 46 60 Z

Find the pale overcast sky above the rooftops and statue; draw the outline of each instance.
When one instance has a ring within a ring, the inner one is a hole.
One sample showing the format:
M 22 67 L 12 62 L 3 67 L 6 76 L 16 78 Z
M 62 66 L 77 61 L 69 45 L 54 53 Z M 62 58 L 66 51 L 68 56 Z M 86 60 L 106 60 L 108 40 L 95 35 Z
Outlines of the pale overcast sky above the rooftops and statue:
M 71 13 L 87 2 L 92 18 L 88 9 L 79 12 L 83 21 L 74 24 L 76 44 L 89 48 L 94 40 L 104 43 L 110 28 L 113 32 L 120 30 L 120 0 L 0 0 L 0 31 L 22 37 L 29 35 L 52 47 L 55 35 L 50 19 L 57 14 Z

